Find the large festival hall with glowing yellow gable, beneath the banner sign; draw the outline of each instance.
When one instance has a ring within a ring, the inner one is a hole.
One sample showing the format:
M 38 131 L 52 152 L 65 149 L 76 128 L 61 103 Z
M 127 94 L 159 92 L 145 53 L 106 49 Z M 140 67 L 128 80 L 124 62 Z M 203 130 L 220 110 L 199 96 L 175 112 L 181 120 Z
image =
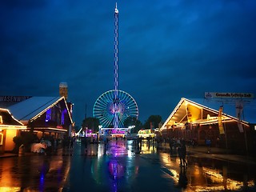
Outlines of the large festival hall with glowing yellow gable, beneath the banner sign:
M 163 138 L 251 151 L 256 125 L 254 99 L 181 98 L 160 128 Z

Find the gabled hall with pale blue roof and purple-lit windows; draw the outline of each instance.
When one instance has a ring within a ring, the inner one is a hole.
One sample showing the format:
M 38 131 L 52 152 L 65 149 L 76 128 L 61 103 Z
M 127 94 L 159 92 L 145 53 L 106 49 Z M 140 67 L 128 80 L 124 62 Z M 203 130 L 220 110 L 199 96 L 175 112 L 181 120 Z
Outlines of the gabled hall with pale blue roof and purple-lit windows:
M 8 109 L 38 138 L 63 138 L 70 134 L 72 104 L 68 106 L 64 97 L 31 97 Z

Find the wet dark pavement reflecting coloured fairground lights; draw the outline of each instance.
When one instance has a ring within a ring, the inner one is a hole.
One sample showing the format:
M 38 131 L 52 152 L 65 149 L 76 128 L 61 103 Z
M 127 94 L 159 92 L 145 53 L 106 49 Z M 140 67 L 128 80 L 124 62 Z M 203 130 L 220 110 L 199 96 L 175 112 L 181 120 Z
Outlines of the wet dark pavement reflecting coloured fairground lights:
M 140 151 L 133 141 L 107 150 L 78 141 L 54 155 L 0 158 L 0 191 L 256 191 L 255 162 L 188 151 L 181 168 L 176 154 L 146 141 Z

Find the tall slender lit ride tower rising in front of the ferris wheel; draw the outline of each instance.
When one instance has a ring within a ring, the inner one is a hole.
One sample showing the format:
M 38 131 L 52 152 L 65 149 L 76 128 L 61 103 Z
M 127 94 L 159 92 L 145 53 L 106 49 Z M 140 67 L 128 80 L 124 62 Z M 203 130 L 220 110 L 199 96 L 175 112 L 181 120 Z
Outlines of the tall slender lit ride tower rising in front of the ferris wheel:
M 114 129 L 118 128 L 118 3 L 114 9 Z

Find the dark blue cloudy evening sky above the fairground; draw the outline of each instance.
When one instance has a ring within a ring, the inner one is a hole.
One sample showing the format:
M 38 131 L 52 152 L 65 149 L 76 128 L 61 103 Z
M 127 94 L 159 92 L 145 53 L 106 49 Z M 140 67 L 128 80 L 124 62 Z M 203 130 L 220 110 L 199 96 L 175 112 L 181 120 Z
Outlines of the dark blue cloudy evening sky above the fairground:
M 1 95 L 58 95 L 69 86 L 74 121 L 114 89 L 114 6 L 99 0 L 2 0 Z M 165 121 L 180 98 L 255 93 L 256 1 L 118 1 L 119 89 L 142 122 Z

